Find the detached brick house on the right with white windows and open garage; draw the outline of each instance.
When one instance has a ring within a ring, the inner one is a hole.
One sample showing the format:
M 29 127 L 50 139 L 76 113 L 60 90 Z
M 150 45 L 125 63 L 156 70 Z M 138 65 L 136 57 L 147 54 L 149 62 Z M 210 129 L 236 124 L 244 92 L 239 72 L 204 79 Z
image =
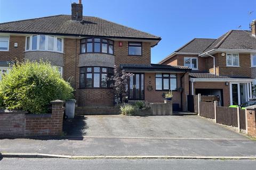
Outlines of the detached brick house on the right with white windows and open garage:
M 159 64 L 190 67 L 190 95 L 218 96 L 222 106 L 242 104 L 253 98 L 255 24 L 251 31 L 230 30 L 218 39 L 195 38 Z

